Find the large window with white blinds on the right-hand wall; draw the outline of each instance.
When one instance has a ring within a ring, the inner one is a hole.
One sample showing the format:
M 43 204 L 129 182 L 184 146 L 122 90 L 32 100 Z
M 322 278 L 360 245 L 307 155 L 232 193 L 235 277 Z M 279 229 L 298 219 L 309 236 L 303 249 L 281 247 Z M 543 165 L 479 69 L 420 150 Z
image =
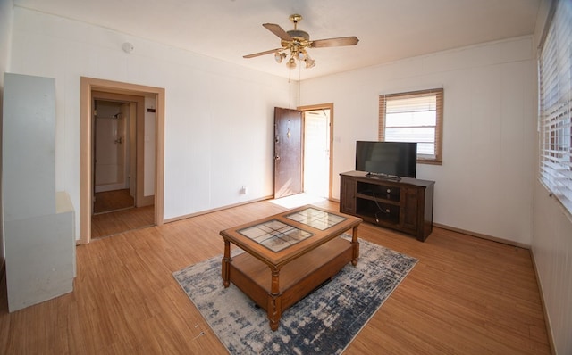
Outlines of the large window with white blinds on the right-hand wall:
M 572 3 L 559 1 L 538 58 L 540 180 L 572 212 Z

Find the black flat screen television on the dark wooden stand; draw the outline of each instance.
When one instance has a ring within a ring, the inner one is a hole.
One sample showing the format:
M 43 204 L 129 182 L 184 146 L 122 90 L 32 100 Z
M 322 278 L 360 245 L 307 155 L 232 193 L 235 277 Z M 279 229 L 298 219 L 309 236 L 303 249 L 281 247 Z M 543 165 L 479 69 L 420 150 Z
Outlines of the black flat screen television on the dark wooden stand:
M 356 143 L 356 170 L 380 177 L 416 177 L 417 144 L 408 142 Z

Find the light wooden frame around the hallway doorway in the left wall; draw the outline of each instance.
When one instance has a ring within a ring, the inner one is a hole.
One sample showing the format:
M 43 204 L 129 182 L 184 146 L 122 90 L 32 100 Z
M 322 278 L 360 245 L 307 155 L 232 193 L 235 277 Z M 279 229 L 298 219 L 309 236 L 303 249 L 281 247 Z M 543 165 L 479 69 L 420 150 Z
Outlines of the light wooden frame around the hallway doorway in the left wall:
M 121 95 L 156 95 L 155 224 L 164 224 L 164 88 L 147 87 L 98 78 L 80 78 L 80 244 L 91 241 L 93 192 L 92 92 Z M 145 109 L 145 107 L 143 107 Z M 139 175 L 139 171 L 138 171 Z

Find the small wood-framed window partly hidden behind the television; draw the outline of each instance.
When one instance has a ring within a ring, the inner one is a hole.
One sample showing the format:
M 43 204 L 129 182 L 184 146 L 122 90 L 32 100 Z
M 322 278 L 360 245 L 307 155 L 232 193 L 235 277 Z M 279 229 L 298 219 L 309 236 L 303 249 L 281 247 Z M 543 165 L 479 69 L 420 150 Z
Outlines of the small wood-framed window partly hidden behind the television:
M 442 163 L 443 89 L 379 96 L 379 140 L 416 142 L 417 162 Z

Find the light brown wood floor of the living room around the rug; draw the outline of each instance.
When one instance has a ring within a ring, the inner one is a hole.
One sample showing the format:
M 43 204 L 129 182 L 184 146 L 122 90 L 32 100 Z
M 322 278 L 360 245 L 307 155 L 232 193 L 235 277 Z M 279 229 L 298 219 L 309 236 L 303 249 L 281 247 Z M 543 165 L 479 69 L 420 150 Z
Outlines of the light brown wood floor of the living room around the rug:
M 220 230 L 279 211 L 256 202 L 80 245 L 74 292 L 25 310 L 7 313 L 4 283 L 0 353 L 226 353 L 172 272 L 221 254 Z M 419 262 L 346 354 L 551 353 L 526 249 L 441 228 L 425 243 L 366 223 L 359 236 Z

